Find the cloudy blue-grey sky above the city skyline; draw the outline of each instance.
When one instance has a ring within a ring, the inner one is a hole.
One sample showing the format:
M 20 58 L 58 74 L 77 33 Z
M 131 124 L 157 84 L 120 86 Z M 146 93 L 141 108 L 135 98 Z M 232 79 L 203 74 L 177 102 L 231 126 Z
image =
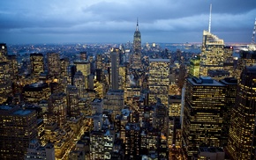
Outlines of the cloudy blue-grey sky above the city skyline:
M 250 43 L 256 0 L 1 0 L 0 42 L 65 43 L 133 40 L 201 42 L 212 4 L 214 33 Z

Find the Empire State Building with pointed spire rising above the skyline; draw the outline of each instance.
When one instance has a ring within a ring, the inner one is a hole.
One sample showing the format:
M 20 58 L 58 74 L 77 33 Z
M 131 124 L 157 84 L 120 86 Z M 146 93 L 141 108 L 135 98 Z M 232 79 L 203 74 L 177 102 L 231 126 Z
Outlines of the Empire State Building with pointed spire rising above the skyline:
M 140 69 L 141 66 L 141 36 L 137 20 L 136 31 L 133 36 L 132 69 Z

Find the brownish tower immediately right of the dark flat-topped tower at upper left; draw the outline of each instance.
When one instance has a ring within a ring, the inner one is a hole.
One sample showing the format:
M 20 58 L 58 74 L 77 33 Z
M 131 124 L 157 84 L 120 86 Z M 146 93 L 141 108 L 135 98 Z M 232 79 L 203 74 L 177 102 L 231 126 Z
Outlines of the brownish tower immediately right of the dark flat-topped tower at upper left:
M 61 75 L 61 63 L 58 53 L 47 54 L 49 76 L 59 78 Z

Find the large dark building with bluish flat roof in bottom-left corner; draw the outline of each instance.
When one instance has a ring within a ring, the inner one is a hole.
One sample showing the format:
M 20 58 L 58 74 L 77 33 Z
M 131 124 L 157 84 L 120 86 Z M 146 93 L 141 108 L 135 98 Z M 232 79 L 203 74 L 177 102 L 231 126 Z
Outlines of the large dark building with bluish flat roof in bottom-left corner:
M 36 113 L 19 106 L 0 106 L 0 157 L 24 159 L 26 148 L 37 136 Z

